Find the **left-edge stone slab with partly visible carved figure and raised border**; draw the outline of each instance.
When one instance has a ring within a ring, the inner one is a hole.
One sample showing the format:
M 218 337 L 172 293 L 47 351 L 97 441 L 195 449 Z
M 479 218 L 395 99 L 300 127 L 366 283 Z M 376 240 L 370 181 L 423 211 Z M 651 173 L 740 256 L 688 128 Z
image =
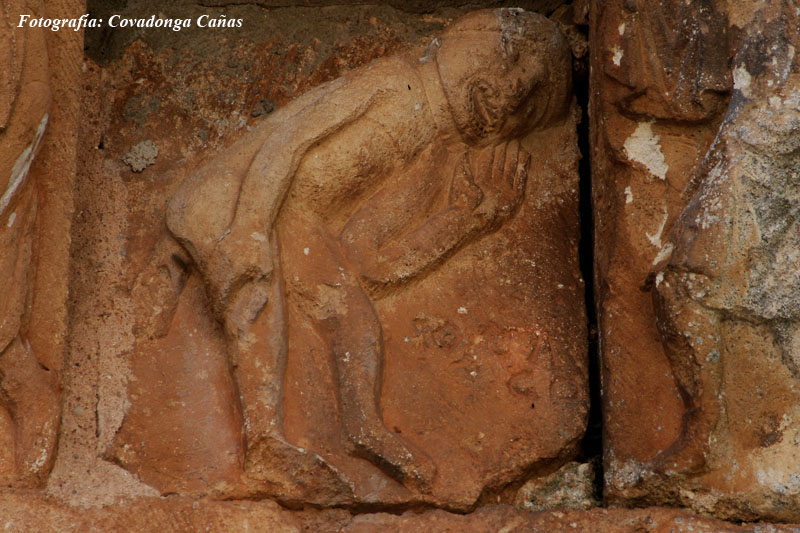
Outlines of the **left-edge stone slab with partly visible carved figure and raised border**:
M 0 482 L 38 486 L 56 451 L 82 36 L 20 32 L 19 13 L 71 17 L 80 2 L 0 7 Z

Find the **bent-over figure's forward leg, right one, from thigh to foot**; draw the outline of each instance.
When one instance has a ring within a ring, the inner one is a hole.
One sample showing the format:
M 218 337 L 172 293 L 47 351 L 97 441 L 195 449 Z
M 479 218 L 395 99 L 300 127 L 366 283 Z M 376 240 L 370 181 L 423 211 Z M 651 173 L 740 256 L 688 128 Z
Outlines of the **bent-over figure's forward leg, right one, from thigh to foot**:
M 343 439 L 354 455 L 404 484 L 428 490 L 434 464 L 383 423 L 383 338 L 372 302 L 327 229 L 317 221 L 293 218 L 281 226 L 286 278 L 331 346 Z

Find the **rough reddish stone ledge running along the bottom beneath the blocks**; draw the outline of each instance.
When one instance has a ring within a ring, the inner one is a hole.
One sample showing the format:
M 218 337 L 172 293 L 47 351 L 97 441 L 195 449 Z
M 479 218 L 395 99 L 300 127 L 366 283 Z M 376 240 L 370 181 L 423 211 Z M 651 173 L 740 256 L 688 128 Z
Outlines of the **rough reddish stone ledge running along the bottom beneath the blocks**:
M 681 509 L 593 509 L 531 513 L 509 505 L 488 505 L 468 515 L 442 510 L 401 515 L 351 515 L 344 510 L 290 511 L 271 501 L 213 501 L 189 497 L 143 498 L 126 505 L 77 510 L 32 494 L 0 493 L 0 526 L 11 533 L 28 531 L 104 532 L 250 531 L 416 533 L 459 531 L 484 533 L 777 533 L 797 526 L 730 524 Z

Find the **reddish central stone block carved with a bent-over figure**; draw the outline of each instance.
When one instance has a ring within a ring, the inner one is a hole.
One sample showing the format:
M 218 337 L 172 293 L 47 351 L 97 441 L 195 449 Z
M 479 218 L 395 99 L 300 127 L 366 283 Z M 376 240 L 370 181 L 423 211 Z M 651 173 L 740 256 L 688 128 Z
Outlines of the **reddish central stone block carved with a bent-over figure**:
M 162 492 L 455 508 L 572 457 L 570 77 L 553 23 L 476 12 L 205 163 L 133 288 L 106 457 Z

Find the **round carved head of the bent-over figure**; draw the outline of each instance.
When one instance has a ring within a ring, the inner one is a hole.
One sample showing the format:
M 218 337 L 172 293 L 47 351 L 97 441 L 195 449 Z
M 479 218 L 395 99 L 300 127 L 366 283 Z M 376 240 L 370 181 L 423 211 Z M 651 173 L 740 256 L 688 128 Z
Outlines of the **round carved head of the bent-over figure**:
M 453 119 L 471 144 L 543 128 L 569 109 L 569 47 L 541 15 L 471 13 L 442 34 L 435 58 Z

